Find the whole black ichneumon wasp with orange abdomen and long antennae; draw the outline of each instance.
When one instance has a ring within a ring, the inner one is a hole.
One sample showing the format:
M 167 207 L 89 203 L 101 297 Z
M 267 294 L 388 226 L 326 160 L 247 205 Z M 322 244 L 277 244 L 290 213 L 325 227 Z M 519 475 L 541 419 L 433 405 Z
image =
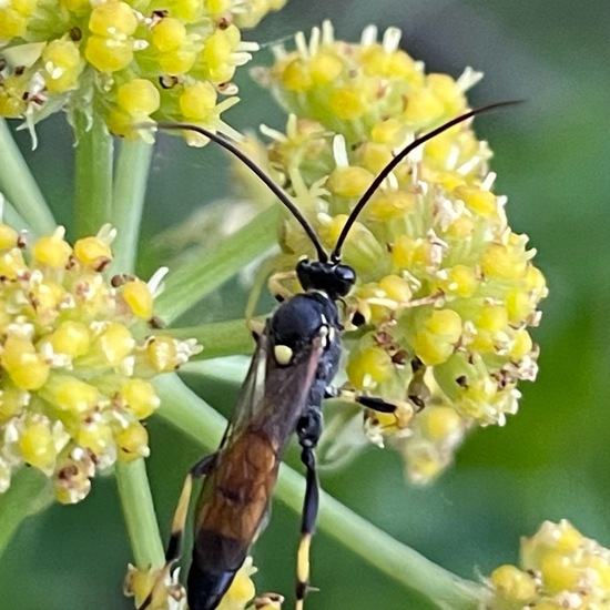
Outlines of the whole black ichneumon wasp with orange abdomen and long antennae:
M 344 242 L 375 191 L 411 151 L 476 114 L 512 103 L 516 102 L 499 102 L 466 112 L 405 146 L 355 205 L 331 253 L 324 250 L 289 195 L 236 145 L 199 125 L 157 123 L 161 130 L 196 132 L 235 155 L 295 216 L 317 253 L 316 261 L 302 260 L 296 265 L 304 292 L 281 303 L 255 334 L 254 356 L 218 449 L 196 462 L 186 477 L 162 575 L 167 573 L 180 557 L 193 480 L 205 477 L 197 502 L 193 560 L 187 577 L 191 610 L 215 609 L 227 591 L 265 522 L 279 462 L 295 433 L 306 470 L 296 582 L 296 609 L 303 608 L 309 579 L 309 545 L 318 510 L 314 449 L 323 428 L 322 403 L 340 395 L 340 390 L 332 386 L 343 335 L 337 302 L 356 282 L 355 271 L 340 262 Z M 374 396 L 349 394 L 352 400 L 377 411 L 393 413 L 396 408 Z M 150 607 L 153 592 L 154 588 L 139 610 Z

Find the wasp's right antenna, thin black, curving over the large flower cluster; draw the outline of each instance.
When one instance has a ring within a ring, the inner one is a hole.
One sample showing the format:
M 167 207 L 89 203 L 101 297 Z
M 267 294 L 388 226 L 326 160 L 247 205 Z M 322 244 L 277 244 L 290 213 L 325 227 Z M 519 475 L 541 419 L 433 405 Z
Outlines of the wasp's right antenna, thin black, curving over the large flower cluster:
M 370 183 L 370 186 L 365 191 L 364 195 L 360 197 L 352 213 L 349 214 L 349 217 L 347 218 L 347 222 L 345 223 L 339 237 L 337 240 L 337 243 L 335 245 L 335 248 L 331 253 L 331 261 L 338 262 L 340 260 L 340 251 L 343 247 L 343 244 L 347 237 L 347 234 L 349 233 L 349 230 L 356 222 L 356 218 L 358 217 L 358 214 L 363 211 L 363 207 L 368 203 L 370 197 L 374 195 L 375 191 L 379 189 L 379 186 L 383 184 L 384 180 L 394 171 L 396 165 L 407 156 L 411 151 L 421 146 L 433 138 L 436 138 L 444 131 L 447 131 L 448 129 L 462 123 L 464 121 L 467 121 L 468 119 L 471 119 L 476 114 L 481 114 L 484 112 L 487 112 L 489 110 L 495 110 L 497 108 L 502 108 L 507 105 L 514 105 L 521 103 L 522 100 L 510 100 L 508 102 L 496 102 L 492 104 L 484 105 L 480 108 L 476 108 L 474 110 L 470 110 L 464 114 L 460 114 L 459 116 L 456 116 L 455 119 L 451 119 L 450 121 L 447 121 L 446 123 L 443 123 L 440 126 L 434 129 L 433 131 L 429 131 L 428 133 L 421 135 L 417 140 L 413 141 L 410 144 L 405 146 L 380 172 L 377 174 L 375 180 Z

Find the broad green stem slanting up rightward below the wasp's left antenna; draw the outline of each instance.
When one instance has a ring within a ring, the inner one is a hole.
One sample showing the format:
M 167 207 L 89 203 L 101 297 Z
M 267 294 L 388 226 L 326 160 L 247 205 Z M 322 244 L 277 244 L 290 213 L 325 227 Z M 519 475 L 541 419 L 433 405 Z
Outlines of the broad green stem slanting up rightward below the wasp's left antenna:
M 224 238 L 213 252 L 187 257 L 170 270 L 165 291 L 155 301 L 156 314 L 166 323 L 195 305 L 276 242 L 277 209 L 261 212 L 251 223 Z

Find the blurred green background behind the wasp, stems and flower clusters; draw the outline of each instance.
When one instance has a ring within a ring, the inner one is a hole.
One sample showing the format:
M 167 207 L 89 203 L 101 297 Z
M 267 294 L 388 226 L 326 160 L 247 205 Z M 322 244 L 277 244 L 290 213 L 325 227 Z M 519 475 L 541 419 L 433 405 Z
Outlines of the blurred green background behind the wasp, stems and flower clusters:
M 545 519 L 570 519 L 610 546 L 610 43 L 608 0 L 291 0 L 250 32 L 273 42 L 331 18 L 338 38 L 357 40 L 375 22 L 401 28 L 403 48 L 428 71 L 458 77 L 471 65 L 486 78 L 471 104 L 527 103 L 477 119 L 509 197 L 515 231 L 538 250 L 550 296 L 542 304 L 540 375 L 523 384 L 520 413 L 504 428 L 480 429 L 456 466 L 434 486 L 405 484 L 399 457 L 374 447 L 323 487 L 400 541 L 460 576 L 477 578 L 517 560 L 519 537 Z M 254 63 L 268 61 L 268 52 Z M 284 114 L 265 92 L 241 79 L 241 105 L 225 115 L 238 129 L 282 126 Z M 62 116 L 40 125 L 37 151 L 20 133 L 58 221 L 71 226 L 72 145 Z M 144 238 L 184 221 L 227 193 L 224 157 L 212 148 L 159 144 L 144 218 Z M 146 273 L 161 261 L 146 256 Z M 211 302 L 220 319 L 241 302 L 231 289 Z M 220 313 L 217 313 L 220 312 Z M 235 387 L 197 387 L 230 409 Z M 225 411 L 226 413 L 226 411 Z M 153 492 L 166 535 L 182 479 L 196 447 L 157 420 L 150 424 Z M 0 526 L 1 527 L 1 526 Z M 274 505 L 256 545 L 260 590 L 293 590 L 298 518 Z M 429 608 L 321 532 L 313 550 L 308 608 Z M 121 610 L 121 581 L 131 558 L 112 478 L 96 480 L 87 501 L 53 507 L 28 520 L 0 559 L 2 610 Z M 289 604 L 286 604 L 289 608 Z

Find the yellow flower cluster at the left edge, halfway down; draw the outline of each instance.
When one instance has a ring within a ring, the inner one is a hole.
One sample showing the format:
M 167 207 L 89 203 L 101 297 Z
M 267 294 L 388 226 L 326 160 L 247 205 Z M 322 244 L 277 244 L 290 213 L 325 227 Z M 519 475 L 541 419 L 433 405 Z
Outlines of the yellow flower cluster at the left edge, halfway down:
M 77 502 L 98 470 L 149 455 L 150 379 L 200 348 L 151 332 L 162 274 L 104 278 L 113 230 L 73 247 L 63 233 L 28 247 L 0 223 L 0 491 L 27 464 Z

